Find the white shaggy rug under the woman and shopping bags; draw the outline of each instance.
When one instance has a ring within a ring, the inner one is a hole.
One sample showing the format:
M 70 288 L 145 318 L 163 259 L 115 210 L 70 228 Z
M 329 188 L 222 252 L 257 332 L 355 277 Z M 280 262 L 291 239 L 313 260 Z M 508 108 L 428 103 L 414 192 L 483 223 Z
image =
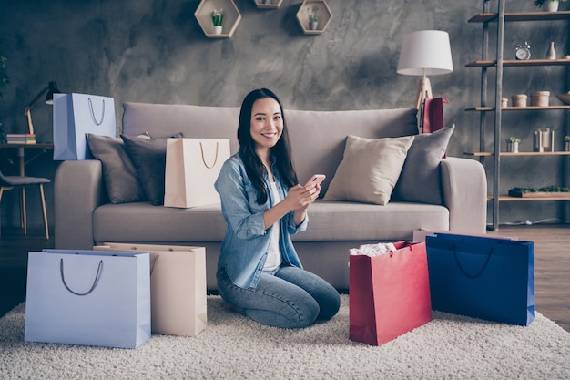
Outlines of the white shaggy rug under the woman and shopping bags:
M 348 295 L 330 322 L 261 326 L 208 298 L 196 337 L 153 335 L 136 350 L 24 342 L 25 305 L 0 319 L 1 379 L 568 379 L 570 334 L 433 312 L 381 346 L 349 340 Z

